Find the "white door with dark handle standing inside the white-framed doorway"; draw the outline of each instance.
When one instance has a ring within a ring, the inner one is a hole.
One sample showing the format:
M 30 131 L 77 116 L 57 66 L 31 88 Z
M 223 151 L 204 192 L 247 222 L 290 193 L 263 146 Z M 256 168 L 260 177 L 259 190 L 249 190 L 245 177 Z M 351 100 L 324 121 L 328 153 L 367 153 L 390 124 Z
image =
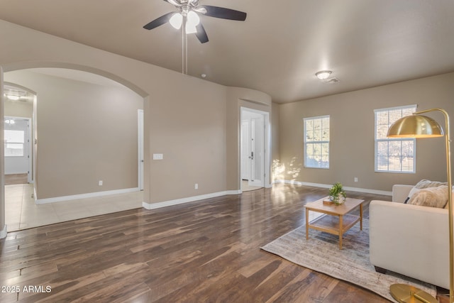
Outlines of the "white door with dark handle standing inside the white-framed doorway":
M 250 186 L 265 187 L 265 119 L 250 119 Z

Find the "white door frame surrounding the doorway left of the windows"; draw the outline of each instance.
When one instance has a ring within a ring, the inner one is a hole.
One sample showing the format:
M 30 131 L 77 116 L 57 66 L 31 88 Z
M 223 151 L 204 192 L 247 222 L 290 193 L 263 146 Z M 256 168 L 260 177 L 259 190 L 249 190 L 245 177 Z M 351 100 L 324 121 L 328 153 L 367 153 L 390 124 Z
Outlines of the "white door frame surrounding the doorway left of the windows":
M 243 123 L 243 116 L 245 111 L 248 111 L 250 113 L 254 114 L 260 114 L 263 117 L 263 124 L 264 124 L 264 131 L 263 131 L 263 172 L 264 172 L 264 177 L 263 177 L 263 182 L 262 182 L 262 187 L 271 187 L 270 183 L 270 169 L 271 169 L 271 123 L 270 123 L 270 113 L 267 111 L 260 111 L 258 109 L 251 109 L 249 107 L 245 106 L 240 106 L 240 133 L 242 132 L 241 128 L 242 123 Z M 243 159 L 243 155 L 241 155 L 241 141 L 240 141 L 240 163 L 243 162 L 245 159 Z M 241 165 L 240 165 L 241 167 Z M 241 169 L 241 168 L 240 168 Z M 240 190 L 243 191 L 243 182 L 242 180 L 242 175 L 241 175 L 241 170 L 240 170 Z

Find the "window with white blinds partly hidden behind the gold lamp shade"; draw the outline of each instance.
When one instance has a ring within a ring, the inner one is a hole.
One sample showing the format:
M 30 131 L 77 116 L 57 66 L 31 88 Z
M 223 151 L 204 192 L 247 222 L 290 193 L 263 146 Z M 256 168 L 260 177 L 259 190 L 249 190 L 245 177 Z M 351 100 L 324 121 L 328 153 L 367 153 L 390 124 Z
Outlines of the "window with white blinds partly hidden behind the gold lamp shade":
M 415 172 L 416 140 L 387 138 L 388 128 L 416 111 L 416 105 L 375 110 L 375 171 Z

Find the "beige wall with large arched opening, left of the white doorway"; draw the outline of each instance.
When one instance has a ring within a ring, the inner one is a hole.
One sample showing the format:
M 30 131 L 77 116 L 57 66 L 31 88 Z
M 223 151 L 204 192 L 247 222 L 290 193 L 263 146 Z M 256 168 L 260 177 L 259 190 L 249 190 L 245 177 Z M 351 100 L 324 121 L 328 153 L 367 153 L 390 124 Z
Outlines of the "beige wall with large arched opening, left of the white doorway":
M 232 162 L 238 153 L 229 154 L 231 148 L 238 150 L 238 141 L 231 140 L 238 138 L 238 100 L 266 99 L 270 106 L 266 94 L 233 88 L 233 96 L 230 88 L 204 79 L 6 21 L 0 21 L 0 40 L 4 43 L 0 65 L 6 72 L 74 68 L 114 79 L 145 98 L 146 203 L 239 189 L 238 168 L 231 170 L 232 165 L 239 165 Z M 152 160 L 153 153 L 163 153 L 164 159 Z M 199 189 L 194 189 L 194 183 Z

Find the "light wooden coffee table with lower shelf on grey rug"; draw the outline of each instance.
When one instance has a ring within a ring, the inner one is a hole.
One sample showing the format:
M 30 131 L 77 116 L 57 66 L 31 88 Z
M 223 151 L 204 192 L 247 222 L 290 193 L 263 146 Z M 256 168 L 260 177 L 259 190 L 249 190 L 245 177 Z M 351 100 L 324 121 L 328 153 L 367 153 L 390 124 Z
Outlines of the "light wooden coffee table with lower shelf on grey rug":
M 339 236 L 339 249 L 342 249 L 342 236 L 345 231 L 348 231 L 358 221 L 362 230 L 362 202 L 364 200 L 347 198 L 342 205 L 326 205 L 323 204 L 324 199 L 328 199 L 328 197 L 307 203 L 304 206 L 306 208 L 306 239 L 309 239 L 309 228 L 325 231 Z M 360 206 L 359 216 L 349 214 L 358 206 Z M 309 211 L 316 211 L 324 215 L 309 222 Z

